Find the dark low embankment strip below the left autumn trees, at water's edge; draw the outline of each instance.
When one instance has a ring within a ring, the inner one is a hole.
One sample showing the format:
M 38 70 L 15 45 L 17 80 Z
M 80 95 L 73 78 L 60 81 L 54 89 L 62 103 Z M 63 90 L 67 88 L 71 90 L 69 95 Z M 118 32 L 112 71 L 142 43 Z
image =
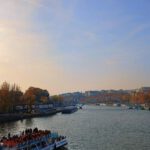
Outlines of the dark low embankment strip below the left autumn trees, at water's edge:
M 58 111 L 51 110 L 47 113 L 13 113 L 13 114 L 0 114 L 0 123 L 10 122 L 10 121 L 17 121 L 23 119 L 29 119 L 34 117 L 45 117 L 55 115 Z

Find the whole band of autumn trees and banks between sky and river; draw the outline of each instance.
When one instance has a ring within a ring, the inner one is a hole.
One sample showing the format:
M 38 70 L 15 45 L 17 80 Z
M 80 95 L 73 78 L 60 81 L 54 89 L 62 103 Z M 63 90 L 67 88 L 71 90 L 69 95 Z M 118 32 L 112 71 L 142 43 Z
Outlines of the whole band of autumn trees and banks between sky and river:
M 92 94 L 91 94 L 92 93 Z M 95 92 L 94 92 L 95 94 Z M 24 93 L 17 84 L 0 85 L 0 123 L 33 117 L 50 116 L 61 112 L 65 106 L 81 104 L 125 104 L 143 106 L 150 110 L 150 90 L 143 91 L 93 91 L 50 96 L 45 89 L 29 87 Z M 76 101 L 74 101 L 76 100 Z

